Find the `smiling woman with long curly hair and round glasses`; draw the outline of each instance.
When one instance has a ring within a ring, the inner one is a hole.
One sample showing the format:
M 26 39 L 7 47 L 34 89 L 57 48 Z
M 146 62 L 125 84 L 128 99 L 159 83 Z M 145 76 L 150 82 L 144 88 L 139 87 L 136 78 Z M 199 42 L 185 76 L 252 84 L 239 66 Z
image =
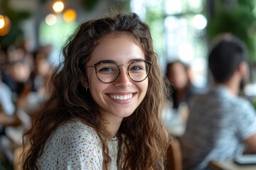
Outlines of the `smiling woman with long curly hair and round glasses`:
M 136 13 L 82 23 L 25 135 L 23 169 L 164 169 L 164 75 Z

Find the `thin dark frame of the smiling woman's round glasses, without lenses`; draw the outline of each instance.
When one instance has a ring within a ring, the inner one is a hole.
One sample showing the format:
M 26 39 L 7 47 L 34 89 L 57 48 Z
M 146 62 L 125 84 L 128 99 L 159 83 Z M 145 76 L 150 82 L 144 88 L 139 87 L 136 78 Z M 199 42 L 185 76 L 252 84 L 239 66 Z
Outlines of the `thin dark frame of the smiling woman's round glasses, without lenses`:
M 102 64 L 102 63 L 112 63 L 112 64 L 115 64 L 115 65 L 117 66 L 117 68 L 118 68 L 117 77 L 116 77 L 113 81 L 110 81 L 110 82 L 107 82 L 107 83 L 104 82 L 104 81 L 102 81 L 102 83 L 110 84 L 110 83 L 116 81 L 116 79 L 119 77 L 119 74 L 120 74 L 120 67 L 121 67 L 122 65 L 128 65 L 128 67 L 127 67 L 127 75 L 128 75 L 128 77 L 129 77 L 129 79 L 131 79 L 132 81 L 135 81 L 135 82 L 142 82 L 142 81 L 144 81 L 144 80 L 146 79 L 146 77 L 145 77 L 144 79 L 140 80 L 140 81 L 136 81 L 136 80 L 132 79 L 132 77 L 129 75 L 129 67 L 130 67 L 134 62 L 145 62 L 146 64 L 149 65 L 149 71 L 148 71 L 147 74 L 146 74 L 146 77 L 148 77 L 148 76 L 149 76 L 150 69 L 151 69 L 151 64 L 152 64 L 152 62 L 149 62 L 149 61 L 147 61 L 147 60 L 134 60 L 133 62 L 130 62 L 129 64 L 121 64 L 121 65 L 117 65 L 117 64 L 116 64 L 115 62 L 113 62 L 112 60 L 103 60 L 103 61 L 97 62 L 96 64 L 93 64 L 93 65 L 91 65 L 91 66 L 87 66 L 87 67 L 85 67 L 85 68 L 93 67 L 93 68 L 95 69 L 95 74 L 96 74 L 96 76 L 97 76 L 97 79 L 99 79 L 100 81 L 102 81 L 102 80 L 98 77 L 98 75 L 97 75 L 97 67 L 98 67 L 100 64 Z

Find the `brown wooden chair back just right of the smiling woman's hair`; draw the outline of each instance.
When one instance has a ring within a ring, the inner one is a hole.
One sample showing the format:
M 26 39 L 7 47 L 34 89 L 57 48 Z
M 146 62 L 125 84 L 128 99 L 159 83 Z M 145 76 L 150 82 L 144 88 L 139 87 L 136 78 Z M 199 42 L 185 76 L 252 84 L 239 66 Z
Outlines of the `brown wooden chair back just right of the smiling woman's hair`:
M 177 139 L 174 139 L 167 150 L 166 170 L 182 170 L 181 146 Z

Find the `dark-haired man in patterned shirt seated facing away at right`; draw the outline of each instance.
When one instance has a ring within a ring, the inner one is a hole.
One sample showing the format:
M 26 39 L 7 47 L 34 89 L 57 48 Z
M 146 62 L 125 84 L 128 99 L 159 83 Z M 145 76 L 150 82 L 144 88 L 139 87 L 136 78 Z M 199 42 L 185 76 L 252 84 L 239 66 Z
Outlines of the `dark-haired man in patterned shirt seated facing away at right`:
M 233 35 L 217 39 L 208 56 L 213 88 L 191 101 L 186 132 L 181 137 L 183 167 L 208 169 L 208 162 L 233 159 L 245 145 L 256 152 L 256 113 L 240 97 L 247 75 L 247 49 Z

